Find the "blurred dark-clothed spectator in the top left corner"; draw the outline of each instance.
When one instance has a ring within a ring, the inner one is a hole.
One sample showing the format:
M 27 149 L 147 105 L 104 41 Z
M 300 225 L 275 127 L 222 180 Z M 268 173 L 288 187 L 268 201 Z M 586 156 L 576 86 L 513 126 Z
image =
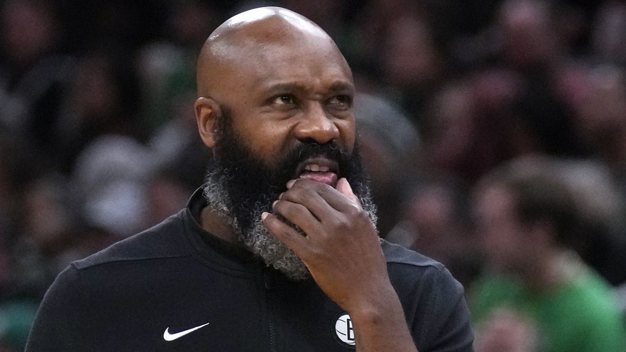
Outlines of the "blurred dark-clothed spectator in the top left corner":
M 0 128 L 24 138 L 39 162 L 57 167 L 55 127 L 73 60 L 60 53 L 62 26 L 48 1 L 0 5 Z

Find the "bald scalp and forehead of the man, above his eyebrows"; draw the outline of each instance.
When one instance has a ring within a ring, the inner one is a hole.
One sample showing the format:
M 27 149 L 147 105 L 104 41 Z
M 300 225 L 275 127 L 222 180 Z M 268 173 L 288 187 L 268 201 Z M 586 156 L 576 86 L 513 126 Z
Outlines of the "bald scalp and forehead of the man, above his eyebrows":
M 234 16 L 207 39 L 198 58 L 198 96 L 222 95 L 237 80 L 297 80 L 324 75 L 351 84 L 352 73 L 336 44 L 319 26 L 281 8 Z M 229 84 L 230 83 L 230 84 Z

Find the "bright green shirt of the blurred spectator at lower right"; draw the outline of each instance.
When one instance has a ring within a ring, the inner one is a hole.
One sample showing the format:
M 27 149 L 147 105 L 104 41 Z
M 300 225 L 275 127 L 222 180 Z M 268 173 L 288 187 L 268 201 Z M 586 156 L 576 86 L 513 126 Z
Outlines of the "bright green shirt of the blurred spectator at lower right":
M 535 324 L 540 352 L 625 352 L 626 329 L 615 294 L 591 270 L 541 294 L 513 277 L 486 275 L 472 290 L 470 310 L 481 323 L 496 309 L 509 309 Z

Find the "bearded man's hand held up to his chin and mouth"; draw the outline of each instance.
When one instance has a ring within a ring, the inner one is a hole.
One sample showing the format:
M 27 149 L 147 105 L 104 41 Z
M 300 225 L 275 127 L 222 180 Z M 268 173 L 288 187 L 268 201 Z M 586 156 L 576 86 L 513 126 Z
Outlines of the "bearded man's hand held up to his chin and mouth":
M 393 290 L 386 261 L 369 215 L 362 209 L 346 179 L 337 189 L 312 180 L 292 180 L 263 215 L 267 229 L 289 246 L 309 268 L 319 287 L 349 313 L 381 305 Z M 393 292 L 395 294 L 395 292 Z

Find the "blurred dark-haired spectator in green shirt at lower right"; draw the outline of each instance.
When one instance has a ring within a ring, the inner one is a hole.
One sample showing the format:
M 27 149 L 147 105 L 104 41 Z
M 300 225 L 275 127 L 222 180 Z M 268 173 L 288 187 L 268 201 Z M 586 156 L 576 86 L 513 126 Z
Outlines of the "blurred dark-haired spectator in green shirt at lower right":
M 581 219 L 554 164 L 497 168 L 476 187 L 473 207 L 488 259 L 471 289 L 478 352 L 626 348 L 614 292 L 568 250 Z

